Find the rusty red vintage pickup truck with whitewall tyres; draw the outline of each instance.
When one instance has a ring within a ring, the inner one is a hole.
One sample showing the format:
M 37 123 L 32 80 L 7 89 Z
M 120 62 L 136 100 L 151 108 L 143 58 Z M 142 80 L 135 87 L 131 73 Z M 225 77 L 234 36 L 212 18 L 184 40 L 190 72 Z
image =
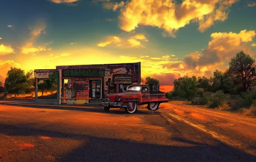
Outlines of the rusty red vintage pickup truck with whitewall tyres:
M 147 104 L 148 110 L 156 111 L 160 103 L 168 102 L 165 93 L 159 91 L 159 84 L 133 84 L 123 93 L 107 94 L 101 105 L 105 111 L 110 108 L 124 108 L 129 114 L 137 111 L 138 105 Z

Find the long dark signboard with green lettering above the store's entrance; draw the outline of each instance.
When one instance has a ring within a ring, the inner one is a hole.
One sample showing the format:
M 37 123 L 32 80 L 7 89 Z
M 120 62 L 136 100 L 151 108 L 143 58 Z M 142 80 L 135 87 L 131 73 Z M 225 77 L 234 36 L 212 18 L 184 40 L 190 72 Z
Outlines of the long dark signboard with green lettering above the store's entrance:
M 105 76 L 105 70 L 63 69 L 63 77 L 67 77 L 67 76 Z

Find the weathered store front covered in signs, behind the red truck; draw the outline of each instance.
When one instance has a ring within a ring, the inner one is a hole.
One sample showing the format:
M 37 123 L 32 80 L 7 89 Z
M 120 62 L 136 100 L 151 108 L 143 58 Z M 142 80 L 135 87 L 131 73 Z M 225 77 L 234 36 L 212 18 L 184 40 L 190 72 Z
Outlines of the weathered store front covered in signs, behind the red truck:
M 60 72 L 61 103 L 89 103 L 108 93 L 126 91 L 141 82 L 138 63 L 56 66 Z

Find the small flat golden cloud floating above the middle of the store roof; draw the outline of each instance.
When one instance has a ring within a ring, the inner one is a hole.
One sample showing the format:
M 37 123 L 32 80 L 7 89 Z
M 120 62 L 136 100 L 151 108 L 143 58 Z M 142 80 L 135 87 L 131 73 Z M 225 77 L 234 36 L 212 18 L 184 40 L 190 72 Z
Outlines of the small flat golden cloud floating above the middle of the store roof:
M 129 37 L 128 39 L 121 39 L 117 36 L 109 36 L 104 41 L 97 44 L 99 47 L 106 47 L 109 44 L 113 44 L 116 47 L 121 48 L 140 48 L 145 47 L 141 44 L 140 41 L 148 42 L 148 39 L 143 34 L 137 34 L 133 37 Z

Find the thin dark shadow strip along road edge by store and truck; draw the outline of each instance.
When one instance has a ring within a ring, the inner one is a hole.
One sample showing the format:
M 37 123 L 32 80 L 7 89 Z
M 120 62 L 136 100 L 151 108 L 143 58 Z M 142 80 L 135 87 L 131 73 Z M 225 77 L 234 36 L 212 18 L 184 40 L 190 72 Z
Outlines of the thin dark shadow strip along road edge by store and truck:
M 128 114 L 125 111 L 120 111 L 119 109 L 110 109 L 109 112 L 105 112 L 103 108 L 100 107 L 72 107 L 72 106 L 42 106 L 42 105 L 19 105 L 19 104 L 9 104 L 9 103 L 2 103 L 1 105 L 8 105 L 8 106 L 18 106 L 18 107 L 27 107 L 27 108 L 42 108 L 42 109 L 54 109 L 54 110 L 75 110 L 75 111 L 88 111 L 88 112 L 101 112 L 101 113 L 110 113 L 110 114 Z M 141 111 L 139 110 L 136 114 L 159 114 L 160 112 L 150 112 L 150 111 Z M 144 108 L 143 108 L 144 109 Z

